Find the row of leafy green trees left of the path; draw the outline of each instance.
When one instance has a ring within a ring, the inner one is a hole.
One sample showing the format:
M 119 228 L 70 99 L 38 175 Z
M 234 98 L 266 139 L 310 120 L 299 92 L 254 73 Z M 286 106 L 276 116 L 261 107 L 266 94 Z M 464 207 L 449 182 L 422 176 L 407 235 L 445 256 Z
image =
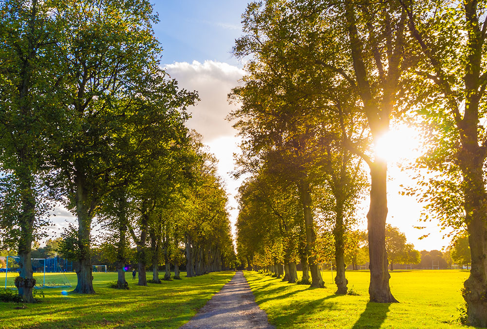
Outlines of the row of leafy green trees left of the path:
M 31 245 L 57 203 L 77 218 L 59 248 L 78 293 L 94 293 L 94 218 L 121 274 L 136 245 L 140 285 L 148 249 L 178 265 L 186 244 L 189 276 L 232 258 L 215 160 L 184 125 L 197 94 L 160 68 L 154 22 L 148 0 L 0 2 L 0 239 L 18 251 L 25 302 Z

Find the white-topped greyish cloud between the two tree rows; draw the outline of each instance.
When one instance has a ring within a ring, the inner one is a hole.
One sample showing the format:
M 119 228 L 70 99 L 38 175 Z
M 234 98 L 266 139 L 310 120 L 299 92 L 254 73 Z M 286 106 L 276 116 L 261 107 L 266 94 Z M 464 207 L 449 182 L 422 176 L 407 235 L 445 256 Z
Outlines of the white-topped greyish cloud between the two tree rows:
M 204 63 L 193 61 L 191 64 L 175 62 L 166 65 L 165 69 L 178 80 L 181 87 L 198 91 L 201 100 L 196 107 L 189 109 L 192 112 L 187 122 L 189 128 L 202 134 L 205 142 L 235 135 L 231 123 L 225 120 L 234 108 L 228 104 L 227 95 L 237 86 L 244 70 L 212 60 L 205 60 Z

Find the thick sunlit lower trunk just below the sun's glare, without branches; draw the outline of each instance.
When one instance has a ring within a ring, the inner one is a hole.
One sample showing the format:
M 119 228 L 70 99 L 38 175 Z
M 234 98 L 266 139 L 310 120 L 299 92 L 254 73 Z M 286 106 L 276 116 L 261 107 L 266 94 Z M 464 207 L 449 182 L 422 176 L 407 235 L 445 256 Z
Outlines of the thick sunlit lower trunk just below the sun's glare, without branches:
M 389 288 L 391 275 L 387 271 L 386 217 L 387 217 L 387 164 L 375 159 L 370 165 L 370 209 L 367 213 L 370 257 L 370 301 L 397 303 Z

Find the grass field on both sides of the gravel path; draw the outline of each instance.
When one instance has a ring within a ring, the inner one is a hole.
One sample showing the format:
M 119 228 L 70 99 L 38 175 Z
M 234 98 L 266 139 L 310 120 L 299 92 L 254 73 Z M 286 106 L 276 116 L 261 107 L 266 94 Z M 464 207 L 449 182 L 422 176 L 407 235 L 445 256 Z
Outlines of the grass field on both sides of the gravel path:
M 183 273 L 182 280 L 138 287 L 128 272 L 131 289 L 115 290 L 107 285 L 116 273 L 94 273 L 95 295 L 63 296 L 61 291 L 70 289 L 43 289 L 41 303 L 25 309 L 0 303 L 0 328 L 178 328 L 233 274 L 186 278 Z M 367 302 L 369 271 L 347 271 L 348 287 L 360 295 L 346 296 L 334 294 L 330 271 L 322 272 L 325 289 L 288 284 L 254 271 L 244 274 L 256 302 L 277 328 L 465 328 L 455 319 L 468 271 L 393 271 L 391 289 L 398 304 Z M 75 273 L 67 277 L 75 286 Z

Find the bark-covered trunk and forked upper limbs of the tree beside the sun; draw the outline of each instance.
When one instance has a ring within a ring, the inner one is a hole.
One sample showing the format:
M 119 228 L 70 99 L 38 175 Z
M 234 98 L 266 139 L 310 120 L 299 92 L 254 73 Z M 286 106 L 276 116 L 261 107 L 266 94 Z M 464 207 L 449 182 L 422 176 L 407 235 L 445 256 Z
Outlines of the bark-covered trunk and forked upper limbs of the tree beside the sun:
M 387 133 L 389 130 L 389 121 L 393 110 L 394 97 L 400 77 L 400 68 L 402 63 L 402 44 L 404 28 L 404 12 L 401 14 L 401 21 L 397 24 L 395 40 L 393 33 L 385 34 L 387 38 L 386 52 L 387 65 L 384 67 L 381 60 L 376 61 L 377 69 L 382 72 L 382 81 L 378 86 L 382 90 L 381 95 L 374 92 L 368 77 L 368 68 L 364 63 L 364 46 L 362 39 L 358 34 L 356 24 L 356 13 L 354 3 L 344 1 L 345 19 L 350 42 L 350 53 L 353 61 L 356 83 L 360 98 L 363 102 L 363 109 L 367 116 L 369 128 L 374 140 Z M 387 4 L 385 4 L 387 5 Z M 366 13 L 368 8 L 364 7 Z M 384 11 L 387 12 L 387 7 Z M 371 15 L 367 13 L 367 15 Z M 383 20 L 386 29 L 395 25 L 392 21 L 393 15 L 387 15 Z M 395 26 L 394 26 L 395 27 Z M 370 31 L 369 31 L 370 32 Z M 368 42 L 378 50 L 378 44 L 374 38 L 369 38 Z M 371 46 L 369 45 L 369 46 Z M 380 55 L 379 55 L 380 56 Z M 369 71 L 370 72 L 370 71 Z M 355 150 L 357 152 L 357 150 Z M 369 233 L 369 255 L 370 255 L 370 273 L 371 281 L 369 286 L 369 295 L 371 302 L 393 303 L 397 300 L 393 297 L 389 288 L 389 272 L 387 271 L 387 252 L 385 247 L 385 225 L 387 217 L 387 163 L 379 156 L 372 160 L 367 155 L 357 152 L 367 162 L 371 170 L 371 194 L 370 209 L 367 213 L 367 226 Z

